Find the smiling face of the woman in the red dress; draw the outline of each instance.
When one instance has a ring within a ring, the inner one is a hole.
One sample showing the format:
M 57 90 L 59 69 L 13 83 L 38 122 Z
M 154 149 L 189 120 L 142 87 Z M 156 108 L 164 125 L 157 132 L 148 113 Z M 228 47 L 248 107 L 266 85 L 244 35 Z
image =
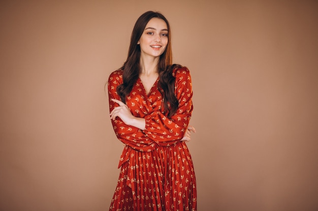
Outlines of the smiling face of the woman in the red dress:
M 152 18 L 147 23 L 138 43 L 141 57 L 159 57 L 168 44 L 168 26 L 160 18 Z

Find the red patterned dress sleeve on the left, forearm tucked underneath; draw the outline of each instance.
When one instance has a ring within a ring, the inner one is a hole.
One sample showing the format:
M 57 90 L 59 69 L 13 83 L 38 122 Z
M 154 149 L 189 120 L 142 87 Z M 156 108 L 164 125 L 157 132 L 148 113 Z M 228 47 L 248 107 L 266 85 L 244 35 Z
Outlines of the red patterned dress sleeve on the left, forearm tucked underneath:
M 117 70 L 112 72 L 108 78 L 108 97 L 109 97 L 109 111 L 111 112 L 117 105 L 110 99 L 120 100 L 116 92 L 118 85 L 122 83 L 122 71 Z M 114 132 L 117 138 L 125 145 L 132 147 L 139 151 L 151 151 L 154 148 L 154 141 L 145 136 L 142 130 L 125 124 L 119 117 L 111 120 Z

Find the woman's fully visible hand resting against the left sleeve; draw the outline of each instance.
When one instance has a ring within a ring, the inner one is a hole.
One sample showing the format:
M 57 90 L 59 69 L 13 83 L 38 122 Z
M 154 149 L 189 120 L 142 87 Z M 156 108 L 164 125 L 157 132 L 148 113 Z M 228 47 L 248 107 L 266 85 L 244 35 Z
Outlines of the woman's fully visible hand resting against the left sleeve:
M 111 99 L 111 101 L 117 103 L 119 106 L 115 107 L 112 112 L 110 112 L 110 119 L 115 120 L 118 116 L 125 124 L 130 125 L 135 117 L 129 110 L 128 106 L 120 100 Z

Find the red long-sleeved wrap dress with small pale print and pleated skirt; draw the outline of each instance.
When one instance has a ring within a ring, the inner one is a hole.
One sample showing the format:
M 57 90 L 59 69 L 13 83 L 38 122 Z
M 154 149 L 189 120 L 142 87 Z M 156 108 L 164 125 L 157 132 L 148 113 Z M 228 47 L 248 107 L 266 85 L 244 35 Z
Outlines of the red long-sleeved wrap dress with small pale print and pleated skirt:
M 136 117 L 145 118 L 145 130 L 126 125 L 119 117 L 112 124 L 125 147 L 120 157 L 118 184 L 110 210 L 197 210 L 197 189 L 193 162 L 183 141 L 192 105 L 192 83 L 189 70 L 173 71 L 175 94 L 179 107 L 167 117 L 158 79 L 149 94 L 140 78 L 126 98 L 126 105 Z M 122 70 L 114 71 L 108 80 L 109 99 L 118 99 L 116 87 L 122 83 Z M 110 111 L 118 106 L 109 101 Z

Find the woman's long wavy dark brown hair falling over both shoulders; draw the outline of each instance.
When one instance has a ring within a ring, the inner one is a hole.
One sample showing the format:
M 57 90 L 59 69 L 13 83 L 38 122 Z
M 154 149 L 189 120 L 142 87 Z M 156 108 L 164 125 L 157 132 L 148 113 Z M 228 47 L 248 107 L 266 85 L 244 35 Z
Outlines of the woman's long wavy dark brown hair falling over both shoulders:
M 123 83 L 116 89 L 117 94 L 120 96 L 121 101 L 125 103 L 126 96 L 132 91 L 135 82 L 137 81 L 140 73 L 140 46 L 137 45 L 147 23 L 152 18 L 160 18 L 164 20 L 168 27 L 168 44 L 165 52 L 160 56 L 158 62 L 159 82 L 158 88 L 164 99 L 164 110 L 168 112 L 168 117 L 171 117 L 178 109 L 179 103 L 175 96 L 175 77 L 172 75 L 174 68 L 180 65 L 172 65 L 172 52 L 171 52 L 171 31 L 168 20 L 159 12 L 148 11 L 142 14 L 135 23 L 131 42 L 128 51 L 127 60 L 120 68 L 123 70 L 122 80 Z

